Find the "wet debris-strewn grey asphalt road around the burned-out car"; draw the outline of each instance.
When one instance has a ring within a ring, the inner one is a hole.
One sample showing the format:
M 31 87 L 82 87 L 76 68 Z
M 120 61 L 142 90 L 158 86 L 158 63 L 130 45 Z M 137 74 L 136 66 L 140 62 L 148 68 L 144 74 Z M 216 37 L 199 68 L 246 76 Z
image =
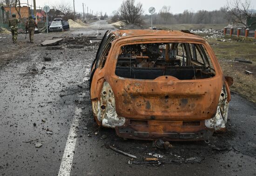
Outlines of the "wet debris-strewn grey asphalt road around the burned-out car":
M 162 151 L 151 141 L 123 140 L 114 130 L 96 125 L 88 79 L 97 46 L 67 46 L 85 36 L 101 38 L 111 29 L 98 21 L 70 32 L 36 34 L 32 45 L 24 34 L 18 45 L 11 43 L 11 36 L 0 35 L 0 174 L 256 175 L 256 105 L 237 94 L 232 94 L 226 132 L 214 134 L 209 144 L 171 142 L 174 148 Z M 53 37 L 67 38 L 63 50 L 39 45 Z M 44 61 L 46 56 L 52 60 Z M 137 156 L 138 162 L 150 157 L 148 153 L 175 162 L 129 165 L 130 158 L 109 145 Z

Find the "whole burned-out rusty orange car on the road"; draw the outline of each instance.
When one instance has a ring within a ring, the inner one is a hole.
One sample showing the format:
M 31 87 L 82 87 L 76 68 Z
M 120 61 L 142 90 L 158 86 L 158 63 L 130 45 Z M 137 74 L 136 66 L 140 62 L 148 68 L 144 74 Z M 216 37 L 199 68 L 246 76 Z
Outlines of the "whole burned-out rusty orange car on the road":
M 145 140 L 206 140 L 225 129 L 230 77 L 189 31 L 107 31 L 92 64 L 98 125 Z

